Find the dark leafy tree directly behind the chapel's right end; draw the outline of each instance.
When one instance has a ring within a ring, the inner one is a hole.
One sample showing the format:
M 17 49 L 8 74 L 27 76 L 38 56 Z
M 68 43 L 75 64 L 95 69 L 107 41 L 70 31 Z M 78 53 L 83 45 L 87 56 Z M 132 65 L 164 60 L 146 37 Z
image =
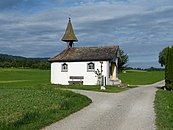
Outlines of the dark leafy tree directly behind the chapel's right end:
M 120 58 L 118 60 L 118 70 L 119 72 L 121 72 L 127 67 L 127 62 L 129 57 L 127 54 L 124 53 L 122 49 L 120 49 L 119 54 L 120 54 Z

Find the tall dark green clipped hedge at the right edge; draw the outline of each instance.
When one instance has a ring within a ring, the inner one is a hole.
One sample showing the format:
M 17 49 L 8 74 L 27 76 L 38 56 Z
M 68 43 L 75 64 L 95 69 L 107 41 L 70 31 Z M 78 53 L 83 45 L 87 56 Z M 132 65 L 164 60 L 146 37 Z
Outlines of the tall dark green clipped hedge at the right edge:
M 165 88 L 173 90 L 173 47 L 167 50 L 166 66 L 165 66 Z

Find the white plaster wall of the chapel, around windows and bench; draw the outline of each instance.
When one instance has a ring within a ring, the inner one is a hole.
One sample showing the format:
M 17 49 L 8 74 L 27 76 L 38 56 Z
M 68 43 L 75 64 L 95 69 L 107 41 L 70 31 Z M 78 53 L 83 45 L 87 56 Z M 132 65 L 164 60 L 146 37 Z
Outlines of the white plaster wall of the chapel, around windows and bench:
M 90 61 L 95 64 L 95 70 L 101 70 L 99 61 Z M 53 62 L 51 63 L 51 83 L 68 85 L 70 76 L 84 76 L 84 85 L 96 85 L 97 77 L 94 72 L 87 72 L 87 64 L 90 62 Z M 68 64 L 68 72 L 61 72 L 61 65 Z M 103 75 L 109 76 L 109 62 L 103 61 L 102 65 Z M 108 78 L 107 78 L 108 79 Z

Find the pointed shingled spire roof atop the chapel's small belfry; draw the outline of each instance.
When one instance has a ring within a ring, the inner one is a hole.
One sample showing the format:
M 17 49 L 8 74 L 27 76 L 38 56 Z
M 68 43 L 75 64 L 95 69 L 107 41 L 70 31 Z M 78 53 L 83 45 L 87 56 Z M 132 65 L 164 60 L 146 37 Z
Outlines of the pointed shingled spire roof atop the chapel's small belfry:
M 74 34 L 73 26 L 71 24 L 70 18 L 69 18 L 69 21 L 68 21 L 68 25 L 67 25 L 65 34 L 64 34 L 64 36 L 62 38 L 62 41 L 65 41 L 65 42 L 75 42 L 75 41 L 78 41 L 77 37 Z

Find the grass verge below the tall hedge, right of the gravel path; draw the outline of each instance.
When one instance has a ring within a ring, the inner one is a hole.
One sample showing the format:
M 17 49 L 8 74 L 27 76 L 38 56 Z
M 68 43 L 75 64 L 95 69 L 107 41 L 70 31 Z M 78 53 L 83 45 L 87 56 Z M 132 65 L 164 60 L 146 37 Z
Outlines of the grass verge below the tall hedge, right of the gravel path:
M 173 129 L 173 92 L 158 90 L 155 97 L 156 125 L 158 130 Z

